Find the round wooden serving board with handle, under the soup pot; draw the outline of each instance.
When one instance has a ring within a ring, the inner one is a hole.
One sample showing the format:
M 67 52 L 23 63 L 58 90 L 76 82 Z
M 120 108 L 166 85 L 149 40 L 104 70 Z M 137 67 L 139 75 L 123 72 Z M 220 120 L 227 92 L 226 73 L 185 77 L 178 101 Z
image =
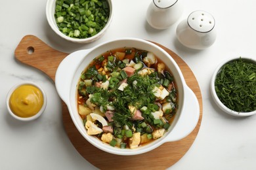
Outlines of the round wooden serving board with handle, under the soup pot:
M 190 135 L 180 141 L 164 143 L 150 152 L 136 156 L 117 156 L 99 150 L 87 142 L 75 128 L 68 112 L 68 108 L 66 104 L 62 102 L 63 124 L 70 141 L 83 158 L 99 169 L 166 169 L 167 167 L 171 167 L 171 165 L 179 161 L 182 156 L 186 154 L 198 135 L 202 121 L 203 105 L 202 94 L 196 77 L 188 65 L 186 65 L 177 54 L 161 44 L 156 42 L 153 43 L 163 48 L 173 57 L 173 59 L 175 59 L 181 68 L 186 83 L 196 94 L 200 105 L 200 118 L 198 124 Z M 15 56 L 18 61 L 43 71 L 54 80 L 56 69 L 60 61 L 68 56 L 68 54 L 54 50 L 33 35 L 26 35 L 20 41 L 20 44 L 18 44 L 15 50 Z

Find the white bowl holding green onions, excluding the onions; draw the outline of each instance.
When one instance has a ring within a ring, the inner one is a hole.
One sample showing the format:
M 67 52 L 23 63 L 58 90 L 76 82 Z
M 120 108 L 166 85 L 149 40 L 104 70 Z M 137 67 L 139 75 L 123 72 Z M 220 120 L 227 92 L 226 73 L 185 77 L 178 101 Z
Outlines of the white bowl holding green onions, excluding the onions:
M 53 29 L 53 31 L 59 35 L 60 37 L 62 37 L 63 39 L 66 39 L 67 41 L 71 41 L 71 42 L 78 42 L 78 43 L 89 43 L 89 42 L 93 42 L 96 41 L 97 39 L 99 39 L 100 37 L 102 37 L 102 35 L 104 35 L 104 33 L 106 32 L 106 30 L 108 29 L 110 23 L 112 22 L 112 18 L 113 18 L 113 7 L 112 7 L 112 1 L 108 0 L 108 5 L 110 7 L 110 16 L 108 18 L 108 22 L 107 24 L 104 26 L 104 28 L 98 32 L 96 35 L 86 38 L 86 39 L 75 39 L 72 37 L 68 37 L 67 35 L 64 35 L 64 33 L 62 33 L 59 29 L 58 26 L 56 24 L 55 18 L 54 18 L 54 13 L 55 13 L 55 3 L 56 0 L 48 0 L 47 1 L 47 5 L 46 5 L 46 17 L 47 17 L 47 21 L 49 23 L 49 25 L 51 26 L 51 28 Z

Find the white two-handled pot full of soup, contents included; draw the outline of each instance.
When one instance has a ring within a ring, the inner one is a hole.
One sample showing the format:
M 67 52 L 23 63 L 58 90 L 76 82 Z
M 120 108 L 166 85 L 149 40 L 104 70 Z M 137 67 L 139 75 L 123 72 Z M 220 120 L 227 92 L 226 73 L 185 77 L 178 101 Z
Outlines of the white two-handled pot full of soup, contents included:
M 55 77 L 77 130 L 111 154 L 142 154 L 178 141 L 200 116 L 175 60 L 142 39 L 115 39 L 73 52 Z

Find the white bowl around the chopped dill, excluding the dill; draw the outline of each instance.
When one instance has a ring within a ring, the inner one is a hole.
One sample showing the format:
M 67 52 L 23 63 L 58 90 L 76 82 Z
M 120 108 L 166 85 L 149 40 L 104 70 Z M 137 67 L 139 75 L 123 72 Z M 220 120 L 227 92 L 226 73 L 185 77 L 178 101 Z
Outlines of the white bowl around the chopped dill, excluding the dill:
M 224 60 L 218 67 L 217 69 L 215 70 L 215 72 L 213 73 L 213 76 L 211 78 L 211 95 L 213 96 L 213 100 L 215 101 L 215 103 L 217 104 L 217 106 L 223 110 L 224 112 L 232 115 L 232 116 L 251 116 L 253 114 L 256 114 L 256 110 L 254 111 L 251 111 L 251 112 L 236 112 L 234 110 L 231 110 L 229 109 L 228 107 L 226 107 L 222 102 L 221 100 L 219 99 L 219 97 L 217 96 L 217 93 L 215 91 L 215 79 L 216 79 L 216 76 L 217 74 L 221 71 L 221 68 L 228 62 L 230 61 L 234 61 L 234 60 L 237 60 L 239 58 L 229 58 L 229 59 L 226 59 Z M 256 63 L 256 60 L 253 59 L 253 58 L 242 58 L 242 59 L 246 59 L 246 60 L 249 60 L 249 61 L 252 61 L 253 63 Z

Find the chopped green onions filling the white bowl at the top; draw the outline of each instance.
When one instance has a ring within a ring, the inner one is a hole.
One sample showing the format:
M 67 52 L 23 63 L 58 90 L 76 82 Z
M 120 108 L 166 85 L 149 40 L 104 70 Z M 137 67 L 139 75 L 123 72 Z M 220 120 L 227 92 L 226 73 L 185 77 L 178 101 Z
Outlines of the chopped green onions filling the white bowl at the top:
M 109 15 L 110 8 L 106 0 L 56 0 L 56 24 L 68 37 L 85 39 L 96 35 L 108 22 Z

